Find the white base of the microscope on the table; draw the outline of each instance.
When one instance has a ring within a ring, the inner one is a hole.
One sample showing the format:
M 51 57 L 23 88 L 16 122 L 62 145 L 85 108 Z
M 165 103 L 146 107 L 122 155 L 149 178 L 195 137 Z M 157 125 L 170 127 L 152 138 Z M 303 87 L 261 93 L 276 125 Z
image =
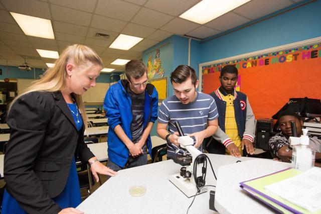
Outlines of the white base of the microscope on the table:
M 169 180 L 177 188 L 179 188 L 187 197 L 192 197 L 197 192 L 197 187 L 193 179 L 194 179 L 193 176 L 190 179 L 183 178 L 180 175 L 180 173 L 176 173 L 174 175 L 169 176 Z M 201 189 L 201 192 L 199 192 L 198 194 L 201 194 L 206 191 L 207 191 L 207 187 L 203 187 Z

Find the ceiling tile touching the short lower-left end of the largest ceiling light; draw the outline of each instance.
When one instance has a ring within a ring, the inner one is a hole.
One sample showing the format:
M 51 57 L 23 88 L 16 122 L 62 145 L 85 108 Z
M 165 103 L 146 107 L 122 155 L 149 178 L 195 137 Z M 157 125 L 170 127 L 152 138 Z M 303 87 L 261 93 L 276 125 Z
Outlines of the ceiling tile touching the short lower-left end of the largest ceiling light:
M 196 24 L 181 18 L 175 18 L 174 20 L 172 20 L 171 22 L 163 26 L 161 30 L 169 31 L 174 34 L 184 35 L 200 26 L 201 25 L 199 24 Z

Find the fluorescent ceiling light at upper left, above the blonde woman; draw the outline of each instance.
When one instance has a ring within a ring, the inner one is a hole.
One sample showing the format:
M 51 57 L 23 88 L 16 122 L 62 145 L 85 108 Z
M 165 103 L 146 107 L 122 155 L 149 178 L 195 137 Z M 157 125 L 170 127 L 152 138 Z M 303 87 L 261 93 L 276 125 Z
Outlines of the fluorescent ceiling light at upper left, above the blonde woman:
M 13 12 L 10 13 L 27 36 L 55 39 L 50 20 Z

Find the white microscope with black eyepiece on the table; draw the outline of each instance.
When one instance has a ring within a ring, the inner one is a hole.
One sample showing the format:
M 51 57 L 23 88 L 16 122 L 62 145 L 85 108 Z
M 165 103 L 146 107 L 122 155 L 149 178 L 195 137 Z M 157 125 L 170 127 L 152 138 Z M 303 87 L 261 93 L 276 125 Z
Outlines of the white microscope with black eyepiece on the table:
M 174 162 L 181 164 L 182 168 L 180 173 L 171 175 L 169 180 L 187 197 L 192 197 L 207 191 L 207 187 L 203 187 L 206 183 L 207 160 L 203 157 L 204 154 L 194 147 L 194 140 L 184 136 L 179 122 L 175 122 L 175 126 L 180 135 L 178 142 L 185 152 L 183 155 L 177 154 L 173 157 Z M 190 154 L 187 154 L 186 150 Z

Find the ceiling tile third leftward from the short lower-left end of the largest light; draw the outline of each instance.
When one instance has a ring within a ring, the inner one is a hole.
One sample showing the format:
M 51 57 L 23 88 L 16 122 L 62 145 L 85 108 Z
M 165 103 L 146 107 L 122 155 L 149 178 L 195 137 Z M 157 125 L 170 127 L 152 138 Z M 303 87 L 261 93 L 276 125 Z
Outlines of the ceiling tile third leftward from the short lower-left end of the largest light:
M 95 14 L 129 21 L 140 9 L 139 6 L 119 0 L 98 0 Z

